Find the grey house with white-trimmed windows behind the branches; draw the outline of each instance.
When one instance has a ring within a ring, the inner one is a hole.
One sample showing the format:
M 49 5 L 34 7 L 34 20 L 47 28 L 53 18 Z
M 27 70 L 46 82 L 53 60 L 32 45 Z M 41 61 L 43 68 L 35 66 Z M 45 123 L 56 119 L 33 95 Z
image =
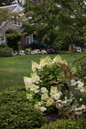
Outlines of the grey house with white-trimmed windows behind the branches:
M 7 8 L 12 13 L 23 11 L 23 8 L 19 4 L 13 4 L 9 6 L 0 7 L 0 9 L 5 9 L 5 8 Z M 22 15 L 24 15 L 24 13 L 18 14 L 17 18 Z M 21 27 L 22 27 L 22 22 L 14 22 L 14 21 L 9 21 L 9 20 L 0 22 L 0 35 L 4 35 L 4 36 L 0 36 L 0 44 L 7 44 L 7 39 L 5 36 L 5 33 L 7 30 L 12 29 L 12 30 L 22 31 Z M 31 44 L 32 42 L 33 42 L 32 34 L 21 37 L 22 44 Z

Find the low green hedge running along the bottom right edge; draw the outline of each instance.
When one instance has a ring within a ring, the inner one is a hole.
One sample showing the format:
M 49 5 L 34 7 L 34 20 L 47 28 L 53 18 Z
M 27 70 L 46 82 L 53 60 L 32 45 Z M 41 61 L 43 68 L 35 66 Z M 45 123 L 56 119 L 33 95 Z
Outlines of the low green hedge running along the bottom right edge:
M 86 123 L 80 120 L 62 119 L 45 124 L 40 129 L 86 129 Z

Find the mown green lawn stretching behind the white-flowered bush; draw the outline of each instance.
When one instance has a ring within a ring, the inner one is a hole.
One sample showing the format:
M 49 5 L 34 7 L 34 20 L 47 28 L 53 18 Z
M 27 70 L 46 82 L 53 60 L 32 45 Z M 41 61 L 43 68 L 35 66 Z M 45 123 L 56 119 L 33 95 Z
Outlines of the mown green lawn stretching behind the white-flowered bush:
M 59 54 L 68 63 L 74 61 L 73 54 Z M 85 53 L 77 53 L 77 57 L 82 57 Z M 0 90 L 8 87 L 24 87 L 23 77 L 30 76 L 31 61 L 39 62 L 40 58 L 46 55 L 25 55 L 16 57 L 0 58 Z M 55 54 L 49 55 L 52 59 Z

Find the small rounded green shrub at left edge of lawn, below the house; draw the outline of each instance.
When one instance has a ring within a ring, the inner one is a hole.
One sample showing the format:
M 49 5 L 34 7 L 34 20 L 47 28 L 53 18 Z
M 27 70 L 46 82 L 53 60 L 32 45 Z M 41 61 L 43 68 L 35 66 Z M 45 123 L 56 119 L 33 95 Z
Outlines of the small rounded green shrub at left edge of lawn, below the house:
M 0 57 L 12 56 L 12 51 L 13 49 L 9 47 L 0 48 Z

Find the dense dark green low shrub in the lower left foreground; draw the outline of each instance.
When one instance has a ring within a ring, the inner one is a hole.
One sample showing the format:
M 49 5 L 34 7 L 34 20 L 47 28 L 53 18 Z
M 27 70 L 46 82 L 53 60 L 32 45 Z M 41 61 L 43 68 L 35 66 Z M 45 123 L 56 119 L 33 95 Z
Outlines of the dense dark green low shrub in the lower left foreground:
M 9 88 L 0 93 L 0 129 L 41 127 L 43 114 L 28 103 L 25 90 Z

